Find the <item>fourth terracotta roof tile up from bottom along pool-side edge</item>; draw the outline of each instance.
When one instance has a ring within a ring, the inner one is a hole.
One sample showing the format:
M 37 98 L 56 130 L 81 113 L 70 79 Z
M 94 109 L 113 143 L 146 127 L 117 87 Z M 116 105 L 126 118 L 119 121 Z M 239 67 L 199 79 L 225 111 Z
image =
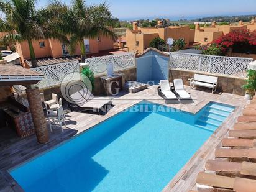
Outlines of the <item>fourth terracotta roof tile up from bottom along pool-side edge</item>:
M 254 140 L 252 139 L 222 139 L 223 147 L 254 147 Z

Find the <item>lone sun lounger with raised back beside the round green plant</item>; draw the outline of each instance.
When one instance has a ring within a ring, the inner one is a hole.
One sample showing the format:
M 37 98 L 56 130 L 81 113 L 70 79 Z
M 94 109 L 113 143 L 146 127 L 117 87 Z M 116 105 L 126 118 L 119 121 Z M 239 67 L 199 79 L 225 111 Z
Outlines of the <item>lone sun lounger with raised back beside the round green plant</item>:
M 108 111 L 109 106 L 112 106 L 111 99 L 94 97 L 93 94 L 88 94 L 88 89 L 76 91 L 71 94 L 70 98 L 73 99 L 74 102 L 69 105 L 70 109 L 73 111 L 93 111 L 103 114 Z

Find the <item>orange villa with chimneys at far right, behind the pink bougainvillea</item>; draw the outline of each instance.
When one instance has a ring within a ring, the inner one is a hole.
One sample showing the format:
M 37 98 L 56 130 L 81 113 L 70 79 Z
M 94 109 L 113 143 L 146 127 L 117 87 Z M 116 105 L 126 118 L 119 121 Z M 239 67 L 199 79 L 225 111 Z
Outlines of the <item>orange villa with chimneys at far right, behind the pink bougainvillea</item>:
M 228 34 L 232 30 L 236 29 L 250 29 L 255 30 L 255 20 L 252 19 L 250 24 L 244 25 L 242 21 L 239 21 L 237 26 L 234 25 L 216 25 L 216 22 L 212 22 L 211 27 L 200 27 L 199 23 L 196 23 L 196 30 L 194 32 L 194 42 L 206 45 L 218 39 L 221 35 Z

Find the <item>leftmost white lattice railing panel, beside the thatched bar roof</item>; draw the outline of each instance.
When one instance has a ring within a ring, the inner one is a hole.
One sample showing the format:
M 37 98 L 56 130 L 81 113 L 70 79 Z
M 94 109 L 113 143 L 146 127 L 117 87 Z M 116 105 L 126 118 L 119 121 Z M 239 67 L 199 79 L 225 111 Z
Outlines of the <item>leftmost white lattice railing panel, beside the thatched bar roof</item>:
M 43 79 L 37 83 L 40 89 L 50 88 L 62 83 L 63 78 L 74 72 L 79 71 L 78 61 L 58 63 L 54 65 L 39 66 L 37 68 L 31 68 L 31 70 L 37 71 L 44 75 Z

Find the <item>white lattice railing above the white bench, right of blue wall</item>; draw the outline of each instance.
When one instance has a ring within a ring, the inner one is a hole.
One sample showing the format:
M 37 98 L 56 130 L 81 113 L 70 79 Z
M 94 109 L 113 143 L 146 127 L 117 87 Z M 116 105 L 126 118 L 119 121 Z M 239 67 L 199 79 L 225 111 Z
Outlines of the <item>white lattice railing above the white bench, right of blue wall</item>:
M 245 77 L 252 58 L 171 52 L 170 67 Z

